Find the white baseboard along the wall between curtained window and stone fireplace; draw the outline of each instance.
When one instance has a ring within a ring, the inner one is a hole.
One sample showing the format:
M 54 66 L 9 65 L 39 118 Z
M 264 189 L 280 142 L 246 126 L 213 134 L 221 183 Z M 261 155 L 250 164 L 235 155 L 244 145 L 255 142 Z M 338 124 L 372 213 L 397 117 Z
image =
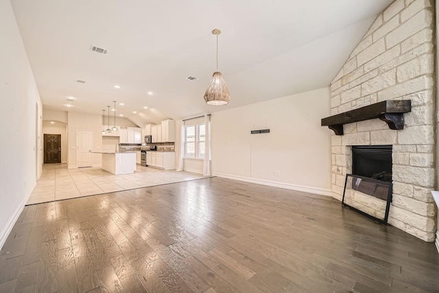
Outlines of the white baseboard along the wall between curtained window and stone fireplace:
M 308 192 L 310 194 L 320 194 L 321 196 L 332 196 L 331 189 L 323 189 L 323 188 L 318 188 L 318 187 L 295 185 L 295 184 L 291 184 L 291 183 L 282 183 L 282 182 L 257 179 L 257 178 L 250 178 L 250 177 L 244 177 L 244 176 L 235 176 L 235 175 L 222 174 L 222 173 L 213 173 L 212 175 L 222 177 L 222 178 L 228 178 L 228 179 L 233 179 L 233 180 L 238 180 L 238 181 L 249 182 L 249 183 L 268 185 L 268 186 L 272 186 L 272 187 L 280 187 L 280 188 L 285 188 L 285 189 L 290 189 L 290 190 L 304 191 L 304 192 Z

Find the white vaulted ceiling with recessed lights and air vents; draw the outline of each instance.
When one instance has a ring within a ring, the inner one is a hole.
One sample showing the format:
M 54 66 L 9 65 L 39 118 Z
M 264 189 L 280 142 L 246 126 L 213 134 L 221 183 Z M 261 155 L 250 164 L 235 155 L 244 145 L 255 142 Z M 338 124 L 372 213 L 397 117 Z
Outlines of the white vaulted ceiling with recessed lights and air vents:
M 329 86 L 377 14 L 392 3 L 10 1 L 46 109 L 102 115 L 115 100 L 117 114 L 138 125 Z M 227 106 L 203 99 L 216 69 L 215 28 L 222 30 L 218 62 L 231 95 Z

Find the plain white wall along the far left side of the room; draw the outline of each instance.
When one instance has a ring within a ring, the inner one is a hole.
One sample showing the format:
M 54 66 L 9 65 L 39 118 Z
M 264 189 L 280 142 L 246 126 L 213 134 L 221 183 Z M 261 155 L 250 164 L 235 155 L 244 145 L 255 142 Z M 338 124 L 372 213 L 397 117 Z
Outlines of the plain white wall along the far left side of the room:
M 8 0 L 0 0 L 0 247 L 41 174 L 42 104 Z M 37 106 L 38 105 L 38 106 Z M 38 113 L 37 113 L 38 112 Z

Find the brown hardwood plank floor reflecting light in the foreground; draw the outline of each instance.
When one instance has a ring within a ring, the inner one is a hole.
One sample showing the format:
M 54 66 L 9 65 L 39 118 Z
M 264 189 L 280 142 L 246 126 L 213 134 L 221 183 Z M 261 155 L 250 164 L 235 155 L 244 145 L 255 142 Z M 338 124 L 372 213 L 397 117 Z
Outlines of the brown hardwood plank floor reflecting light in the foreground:
M 439 254 L 333 198 L 205 178 L 25 207 L 14 291 L 439 292 Z

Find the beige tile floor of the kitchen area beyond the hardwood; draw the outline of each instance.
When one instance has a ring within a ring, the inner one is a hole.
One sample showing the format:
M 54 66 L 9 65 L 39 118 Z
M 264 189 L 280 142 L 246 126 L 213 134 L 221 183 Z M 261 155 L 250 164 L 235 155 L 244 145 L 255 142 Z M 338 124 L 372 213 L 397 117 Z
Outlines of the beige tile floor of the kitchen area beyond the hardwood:
M 99 167 L 67 169 L 67 164 L 44 164 L 27 204 L 106 194 L 141 187 L 205 178 L 191 172 L 176 172 L 137 165 L 134 174 L 114 175 Z

